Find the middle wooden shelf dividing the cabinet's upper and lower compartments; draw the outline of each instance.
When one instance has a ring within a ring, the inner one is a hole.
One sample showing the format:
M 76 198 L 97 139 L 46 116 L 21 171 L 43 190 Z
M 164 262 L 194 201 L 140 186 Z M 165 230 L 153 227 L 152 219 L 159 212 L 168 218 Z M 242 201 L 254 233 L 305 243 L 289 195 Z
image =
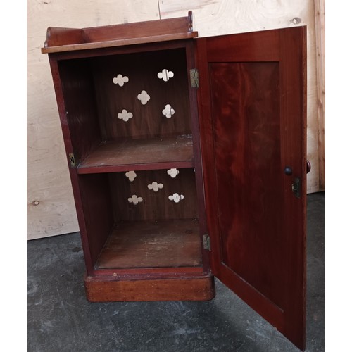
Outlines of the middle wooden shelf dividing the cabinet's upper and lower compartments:
M 191 135 L 106 142 L 78 165 L 79 174 L 194 167 Z

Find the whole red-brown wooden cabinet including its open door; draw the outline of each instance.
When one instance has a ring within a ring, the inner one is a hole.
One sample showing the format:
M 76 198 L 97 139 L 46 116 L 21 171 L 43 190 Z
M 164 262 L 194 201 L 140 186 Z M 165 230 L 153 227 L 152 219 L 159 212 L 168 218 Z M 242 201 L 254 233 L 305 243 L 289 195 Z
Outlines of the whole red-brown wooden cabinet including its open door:
M 48 29 L 89 301 L 209 300 L 305 340 L 306 27 Z

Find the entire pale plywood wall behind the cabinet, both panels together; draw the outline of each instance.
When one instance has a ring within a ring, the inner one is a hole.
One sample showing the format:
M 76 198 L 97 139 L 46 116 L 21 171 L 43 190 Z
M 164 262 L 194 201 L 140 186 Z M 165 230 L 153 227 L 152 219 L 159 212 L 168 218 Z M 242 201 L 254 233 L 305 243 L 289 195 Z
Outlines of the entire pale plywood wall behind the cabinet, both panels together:
M 40 53 L 46 28 L 183 17 L 189 10 L 201 37 L 308 26 L 308 192 L 319 190 L 314 0 L 27 0 L 28 239 L 78 231 L 49 61 Z

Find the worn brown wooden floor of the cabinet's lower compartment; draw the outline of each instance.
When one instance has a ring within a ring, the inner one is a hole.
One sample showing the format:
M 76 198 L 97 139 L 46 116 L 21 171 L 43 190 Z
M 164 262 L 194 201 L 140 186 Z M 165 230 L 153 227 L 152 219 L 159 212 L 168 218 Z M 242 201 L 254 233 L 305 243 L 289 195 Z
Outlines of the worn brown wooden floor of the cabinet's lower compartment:
M 121 222 L 108 237 L 95 269 L 200 266 L 194 219 Z

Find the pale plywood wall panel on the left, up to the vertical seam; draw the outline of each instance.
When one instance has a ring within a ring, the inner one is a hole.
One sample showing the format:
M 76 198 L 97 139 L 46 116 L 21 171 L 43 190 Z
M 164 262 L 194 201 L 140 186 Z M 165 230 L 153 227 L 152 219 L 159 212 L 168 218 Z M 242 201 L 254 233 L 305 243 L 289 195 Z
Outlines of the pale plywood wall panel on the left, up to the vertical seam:
M 156 20 L 158 0 L 27 1 L 27 239 L 78 231 L 46 28 L 94 27 Z

